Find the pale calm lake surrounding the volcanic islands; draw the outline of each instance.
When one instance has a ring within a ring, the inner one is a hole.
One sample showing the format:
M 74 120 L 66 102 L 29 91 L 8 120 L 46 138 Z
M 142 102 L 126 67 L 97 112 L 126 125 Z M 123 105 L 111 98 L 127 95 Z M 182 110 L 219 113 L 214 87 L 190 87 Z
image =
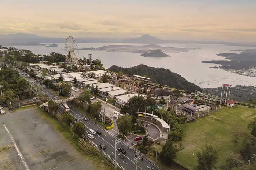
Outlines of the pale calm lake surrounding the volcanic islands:
M 78 48 L 102 47 L 104 45 L 117 45 L 118 43 L 77 43 Z M 122 43 L 126 44 L 126 43 Z M 45 46 L 15 46 L 19 49 L 28 49 L 35 54 L 49 55 L 54 51 L 65 54 L 64 43 L 58 44 L 59 47 L 45 47 Z M 127 44 L 127 45 L 145 45 L 145 44 Z M 174 73 L 180 74 L 189 82 L 193 82 L 200 87 L 219 87 L 221 84 L 249 85 L 256 86 L 255 77 L 247 77 L 234 73 L 227 72 L 222 69 L 210 68 L 213 66 L 220 66 L 212 63 L 201 63 L 203 60 L 224 60 L 224 57 L 217 56 L 218 53 L 240 53 L 237 51 L 230 51 L 236 49 L 256 49 L 254 47 L 239 47 L 239 46 L 223 46 L 218 44 L 158 44 L 160 46 L 172 46 L 178 48 L 200 48 L 188 52 L 168 53 L 171 57 L 143 57 L 138 53 L 124 53 L 124 52 L 105 52 L 105 51 L 88 51 L 79 50 L 79 58 L 88 54 L 92 54 L 93 59 L 101 59 L 105 68 L 112 65 L 121 67 L 132 67 L 139 64 L 145 64 L 152 67 L 163 67 L 170 69 Z

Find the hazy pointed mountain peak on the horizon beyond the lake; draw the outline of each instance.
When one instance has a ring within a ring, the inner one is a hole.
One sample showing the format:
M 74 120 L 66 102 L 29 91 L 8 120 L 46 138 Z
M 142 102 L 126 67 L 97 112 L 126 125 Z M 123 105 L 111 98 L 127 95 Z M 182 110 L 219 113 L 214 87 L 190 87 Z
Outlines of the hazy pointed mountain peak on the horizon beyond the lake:
M 143 44 L 153 44 L 153 43 L 165 43 L 166 41 L 153 37 L 151 35 L 145 34 L 139 38 L 126 38 L 121 40 L 121 43 L 143 43 Z

